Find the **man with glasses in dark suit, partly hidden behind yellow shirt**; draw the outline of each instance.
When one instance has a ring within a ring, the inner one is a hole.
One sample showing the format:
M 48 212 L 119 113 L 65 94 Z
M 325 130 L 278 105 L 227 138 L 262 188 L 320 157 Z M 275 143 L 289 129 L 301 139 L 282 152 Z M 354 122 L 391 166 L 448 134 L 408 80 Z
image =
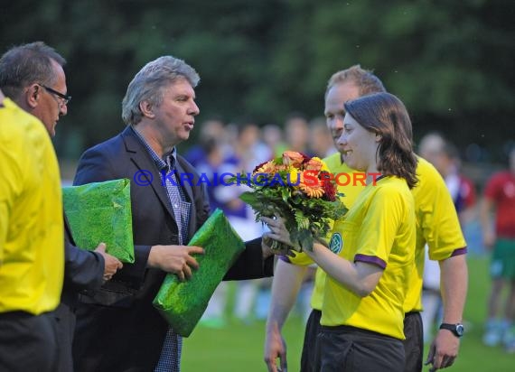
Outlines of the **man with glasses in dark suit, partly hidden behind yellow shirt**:
M 23 110 L 39 118 L 49 135 L 55 135 L 60 116 L 68 112 L 70 97 L 66 95 L 66 76 L 62 67 L 66 60 L 43 42 L 15 46 L 0 59 L 0 87 L 5 95 Z M 59 347 L 58 371 L 73 370 L 71 342 L 75 328 L 75 308 L 79 293 L 91 292 L 116 273 L 121 263 L 106 253 L 101 243 L 94 252 L 75 246 L 66 216 L 64 237 L 64 283 L 61 303 L 53 312 L 57 321 Z

